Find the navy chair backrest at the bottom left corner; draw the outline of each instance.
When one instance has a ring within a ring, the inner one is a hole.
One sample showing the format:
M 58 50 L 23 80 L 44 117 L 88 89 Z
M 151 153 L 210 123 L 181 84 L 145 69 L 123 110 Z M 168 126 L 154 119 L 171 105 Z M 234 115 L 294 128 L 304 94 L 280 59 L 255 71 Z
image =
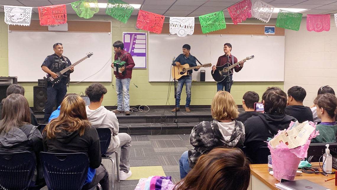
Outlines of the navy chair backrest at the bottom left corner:
M 0 189 L 28 189 L 35 171 L 31 152 L 0 153 Z

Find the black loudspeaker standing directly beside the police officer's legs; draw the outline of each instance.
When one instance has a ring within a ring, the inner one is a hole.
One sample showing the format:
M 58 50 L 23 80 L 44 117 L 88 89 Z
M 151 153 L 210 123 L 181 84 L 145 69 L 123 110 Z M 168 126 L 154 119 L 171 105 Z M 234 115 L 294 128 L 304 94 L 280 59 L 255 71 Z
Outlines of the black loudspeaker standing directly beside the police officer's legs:
M 47 88 L 44 86 L 33 87 L 34 113 L 44 113 L 47 102 Z

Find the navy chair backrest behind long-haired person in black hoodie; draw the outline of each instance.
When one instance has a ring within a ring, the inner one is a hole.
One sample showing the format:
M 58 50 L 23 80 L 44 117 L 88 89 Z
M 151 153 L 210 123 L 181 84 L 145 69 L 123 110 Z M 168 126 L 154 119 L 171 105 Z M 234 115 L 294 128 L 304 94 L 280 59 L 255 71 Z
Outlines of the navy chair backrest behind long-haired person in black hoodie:
M 85 153 L 40 152 L 45 182 L 49 190 L 80 190 L 88 174 Z

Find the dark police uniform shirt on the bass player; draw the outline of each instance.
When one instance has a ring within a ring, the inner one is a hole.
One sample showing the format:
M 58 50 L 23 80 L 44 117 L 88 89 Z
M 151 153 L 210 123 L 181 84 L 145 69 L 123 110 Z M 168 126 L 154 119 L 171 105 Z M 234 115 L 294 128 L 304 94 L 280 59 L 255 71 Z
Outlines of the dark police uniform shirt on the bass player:
M 64 68 L 66 68 L 66 67 L 68 67 L 68 66 L 70 66 L 71 65 L 71 62 L 70 62 L 70 60 L 68 59 L 68 57 L 66 57 L 66 56 L 61 56 L 61 57 L 59 57 L 57 54 L 53 54 L 53 55 L 48 55 L 45 59 L 44 59 L 44 61 L 43 61 L 43 63 L 42 63 L 42 65 L 41 65 L 41 67 L 42 66 L 46 66 L 46 67 L 48 67 L 48 69 L 50 69 L 51 71 L 53 71 L 53 72 L 56 72 L 56 70 L 58 70 L 61 66 L 62 66 L 62 64 L 64 64 L 65 63 L 65 65 L 63 66 L 63 68 L 62 69 L 64 69 Z M 66 72 L 66 73 L 64 73 L 64 75 L 70 75 L 70 73 L 69 73 L 69 71 L 68 72 Z M 65 78 L 63 78 L 62 80 L 61 80 L 61 82 L 62 81 L 67 81 L 67 79 L 65 79 Z

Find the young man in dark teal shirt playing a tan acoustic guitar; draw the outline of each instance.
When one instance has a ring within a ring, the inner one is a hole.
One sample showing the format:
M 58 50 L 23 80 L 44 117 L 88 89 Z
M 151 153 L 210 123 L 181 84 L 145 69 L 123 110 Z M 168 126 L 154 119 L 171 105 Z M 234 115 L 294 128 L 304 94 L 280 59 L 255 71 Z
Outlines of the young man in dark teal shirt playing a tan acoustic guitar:
M 179 65 L 185 65 L 188 64 L 189 67 L 197 67 L 194 69 L 194 71 L 197 71 L 200 69 L 200 66 L 196 65 L 196 58 L 191 55 L 190 52 L 191 46 L 188 44 L 183 45 L 183 53 L 180 54 L 176 60 L 174 60 L 173 66 L 179 66 Z M 183 89 L 184 84 L 186 85 L 186 105 L 185 110 L 186 112 L 191 112 L 189 109 L 189 105 L 191 103 L 191 86 L 192 86 L 192 72 L 193 70 L 187 71 L 187 75 L 182 76 L 178 79 L 178 86 L 177 86 L 177 110 L 173 109 L 171 112 L 179 112 L 180 111 L 180 94 Z

